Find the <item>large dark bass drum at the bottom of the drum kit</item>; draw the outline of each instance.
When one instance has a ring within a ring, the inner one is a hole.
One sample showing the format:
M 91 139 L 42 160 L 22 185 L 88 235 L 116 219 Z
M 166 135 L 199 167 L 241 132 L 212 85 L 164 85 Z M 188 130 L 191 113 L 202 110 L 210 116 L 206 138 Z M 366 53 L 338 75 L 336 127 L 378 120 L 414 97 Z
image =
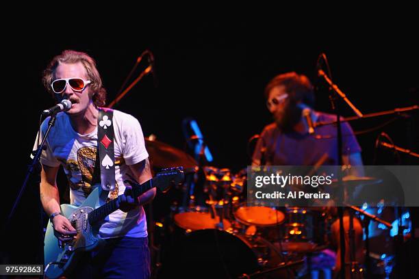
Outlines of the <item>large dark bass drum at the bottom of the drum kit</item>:
M 238 278 L 281 263 L 279 251 L 266 239 L 216 229 L 183 235 L 170 251 L 162 278 Z

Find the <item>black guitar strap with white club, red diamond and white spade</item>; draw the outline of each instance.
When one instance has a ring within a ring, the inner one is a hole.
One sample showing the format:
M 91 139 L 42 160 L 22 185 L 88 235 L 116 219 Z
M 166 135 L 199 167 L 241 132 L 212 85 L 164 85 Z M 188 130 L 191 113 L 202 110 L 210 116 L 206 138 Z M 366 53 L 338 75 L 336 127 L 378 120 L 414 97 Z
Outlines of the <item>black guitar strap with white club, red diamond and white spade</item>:
M 97 118 L 97 155 L 94 164 L 94 182 L 101 182 L 101 200 L 115 189 L 114 111 L 99 107 Z M 100 166 L 100 172 L 99 172 Z M 99 189 L 100 190 L 100 189 Z

